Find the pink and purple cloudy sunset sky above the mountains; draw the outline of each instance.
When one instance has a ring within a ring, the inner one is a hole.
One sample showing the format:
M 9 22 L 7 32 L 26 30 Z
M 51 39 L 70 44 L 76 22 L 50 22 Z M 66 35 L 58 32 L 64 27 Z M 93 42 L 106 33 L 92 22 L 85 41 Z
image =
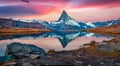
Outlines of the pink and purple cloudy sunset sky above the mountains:
M 1 18 L 53 21 L 63 10 L 77 21 L 108 21 L 120 18 L 120 0 L 0 0 Z

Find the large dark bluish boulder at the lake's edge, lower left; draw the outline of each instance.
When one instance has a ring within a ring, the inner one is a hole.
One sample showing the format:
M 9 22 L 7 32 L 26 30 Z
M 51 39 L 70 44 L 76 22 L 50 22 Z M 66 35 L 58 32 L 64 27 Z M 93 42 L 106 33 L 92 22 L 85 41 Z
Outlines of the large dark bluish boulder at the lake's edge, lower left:
M 45 51 L 31 44 L 12 43 L 7 45 L 6 55 L 13 55 L 15 58 L 36 58 L 44 56 Z

